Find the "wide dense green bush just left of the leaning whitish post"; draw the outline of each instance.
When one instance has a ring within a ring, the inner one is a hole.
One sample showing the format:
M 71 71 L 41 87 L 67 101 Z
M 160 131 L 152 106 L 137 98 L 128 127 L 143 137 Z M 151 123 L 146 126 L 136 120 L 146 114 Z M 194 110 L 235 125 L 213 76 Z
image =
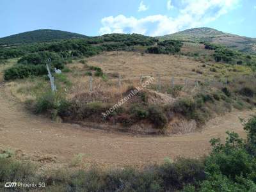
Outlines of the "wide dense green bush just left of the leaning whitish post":
M 4 79 L 23 79 L 29 76 L 42 76 L 47 74 L 45 65 L 14 65 L 4 70 Z

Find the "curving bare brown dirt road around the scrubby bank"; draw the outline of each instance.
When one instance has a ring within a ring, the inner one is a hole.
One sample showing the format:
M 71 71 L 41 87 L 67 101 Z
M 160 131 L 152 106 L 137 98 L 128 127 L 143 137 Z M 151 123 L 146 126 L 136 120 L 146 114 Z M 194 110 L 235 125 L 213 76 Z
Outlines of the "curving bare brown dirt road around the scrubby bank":
M 1 86 L 1 85 L 0 85 Z M 78 125 L 57 124 L 24 113 L 0 87 L 0 148 L 14 148 L 41 163 L 68 163 L 76 154 L 85 154 L 84 163 L 124 166 L 161 163 L 165 157 L 198 157 L 209 152 L 211 138 L 226 137 L 225 131 L 243 134 L 238 117 L 253 111 L 234 111 L 212 119 L 202 132 L 178 136 L 129 136 Z

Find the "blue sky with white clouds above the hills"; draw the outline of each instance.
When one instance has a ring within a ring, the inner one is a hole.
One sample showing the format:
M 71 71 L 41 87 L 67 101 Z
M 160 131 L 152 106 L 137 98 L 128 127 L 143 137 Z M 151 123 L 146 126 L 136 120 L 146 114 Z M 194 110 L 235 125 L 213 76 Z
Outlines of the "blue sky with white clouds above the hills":
M 35 29 L 159 36 L 209 27 L 256 37 L 255 0 L 1 0 L 0 37 Z

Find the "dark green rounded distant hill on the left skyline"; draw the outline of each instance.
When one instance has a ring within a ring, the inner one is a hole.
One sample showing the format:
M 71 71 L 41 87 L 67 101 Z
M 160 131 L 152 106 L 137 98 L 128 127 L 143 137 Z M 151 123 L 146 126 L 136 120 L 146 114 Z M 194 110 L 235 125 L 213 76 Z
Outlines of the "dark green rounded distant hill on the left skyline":
M 15 35 L 0 38 L 0 45 L 12 44 L 30 44 L 38 42 L 49 42 L 52 40 L 63 40 L 69 38 L 84 38 L 85 35 L 71 33 L 67 31 L 52 30 L 52 29 L 38 29 L 35 31 L 28 31 Z

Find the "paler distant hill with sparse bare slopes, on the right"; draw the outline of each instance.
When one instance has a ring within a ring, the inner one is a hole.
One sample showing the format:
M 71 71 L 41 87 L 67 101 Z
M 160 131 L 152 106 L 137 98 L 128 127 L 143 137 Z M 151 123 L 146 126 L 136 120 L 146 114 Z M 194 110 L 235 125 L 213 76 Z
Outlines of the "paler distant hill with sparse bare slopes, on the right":
M 244 52 L 256 53 L 256 38 L 223 33 L 211 28 L 194 28 L 173 33 L 171 35 L 159 36 L 159 40 L 184 40 L 192 42 L 212 42 L 225 45 L 230 48 Z

